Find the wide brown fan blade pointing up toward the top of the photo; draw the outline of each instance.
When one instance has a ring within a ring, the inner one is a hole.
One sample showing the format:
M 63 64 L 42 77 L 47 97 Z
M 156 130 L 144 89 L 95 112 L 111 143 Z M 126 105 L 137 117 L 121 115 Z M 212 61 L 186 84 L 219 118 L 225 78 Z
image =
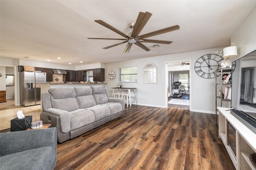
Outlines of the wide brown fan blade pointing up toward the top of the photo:
M 144 28 L 150 17 L 152 16 L 151 13 L 149 12 L 140 12 L 138 15 L 138 18 L 135 22 L 134 29 L 132 31 L 131 37 L 138 37 L 140 34 L 141 30 Z

